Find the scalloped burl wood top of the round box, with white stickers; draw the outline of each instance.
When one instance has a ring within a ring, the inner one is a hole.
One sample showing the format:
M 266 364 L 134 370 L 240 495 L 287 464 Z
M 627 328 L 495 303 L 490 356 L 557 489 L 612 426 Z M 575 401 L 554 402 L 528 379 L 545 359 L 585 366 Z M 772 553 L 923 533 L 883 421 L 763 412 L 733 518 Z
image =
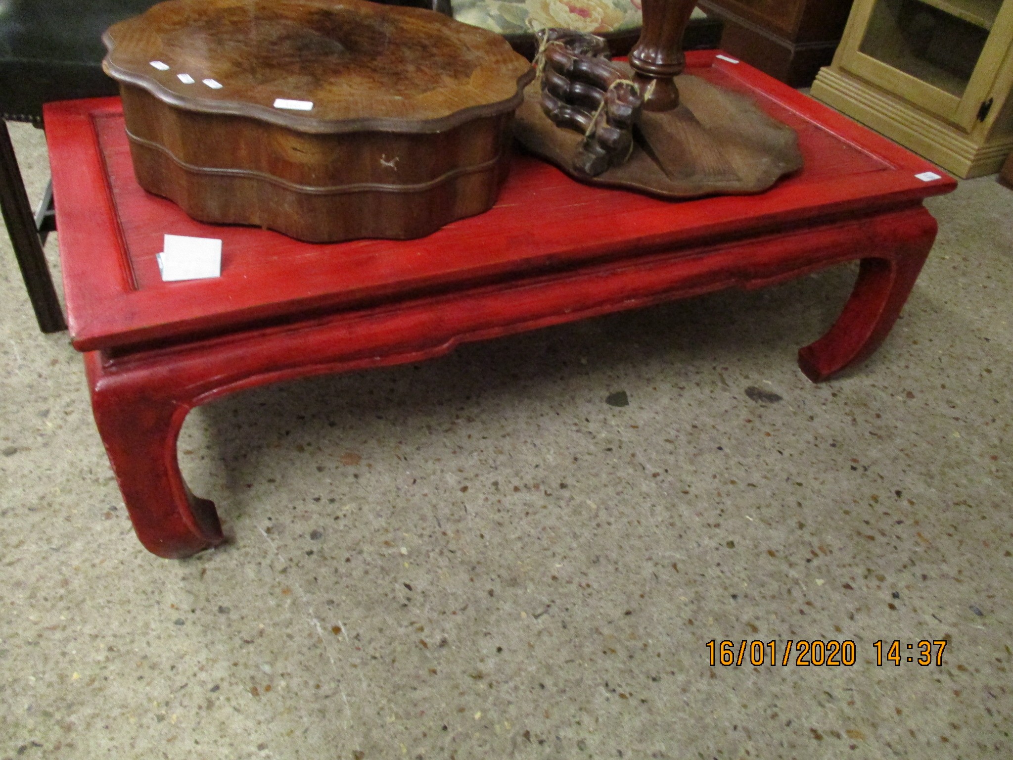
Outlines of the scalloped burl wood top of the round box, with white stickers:
M 172 0 L 104 40 L 121 82 L 304 132 L 448 129 L 516 107 L 529 70 L 491 31 L 365 0 Z

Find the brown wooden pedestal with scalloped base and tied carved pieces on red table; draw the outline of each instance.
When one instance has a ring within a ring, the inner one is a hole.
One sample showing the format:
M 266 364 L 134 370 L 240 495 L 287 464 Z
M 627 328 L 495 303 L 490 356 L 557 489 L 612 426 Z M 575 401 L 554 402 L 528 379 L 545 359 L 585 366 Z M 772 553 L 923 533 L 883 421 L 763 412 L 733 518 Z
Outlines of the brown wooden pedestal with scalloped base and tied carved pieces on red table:
M 578 179 L 663 198 L 761 193 L 801 168 L 790 127 L 749 97 L 681 76 L 693 7 L 643 0 L 628 64 L 608 61 L 594 35 L 540 32 L 542 91 L 525 95 L 520 141 Z

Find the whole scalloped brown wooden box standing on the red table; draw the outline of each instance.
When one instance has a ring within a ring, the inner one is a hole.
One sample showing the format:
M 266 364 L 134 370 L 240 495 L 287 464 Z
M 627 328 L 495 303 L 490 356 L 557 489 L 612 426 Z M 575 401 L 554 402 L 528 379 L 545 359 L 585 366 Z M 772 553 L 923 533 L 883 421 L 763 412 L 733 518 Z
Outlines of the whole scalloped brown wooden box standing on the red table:
M 105 44 L 145 189 L 312 242 L 490 208 L 534 75 L 497 34 L 363 0 L 172 0 Z

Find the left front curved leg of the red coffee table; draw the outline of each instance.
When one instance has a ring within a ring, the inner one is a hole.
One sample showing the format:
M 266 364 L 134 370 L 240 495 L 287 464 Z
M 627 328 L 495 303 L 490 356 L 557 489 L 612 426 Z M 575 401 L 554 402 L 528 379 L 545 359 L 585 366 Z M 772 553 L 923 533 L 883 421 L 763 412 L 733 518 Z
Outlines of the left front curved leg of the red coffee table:
M 222 543 L 214 503 L 190 492 L 176 460 L 190 405 L 103 376 L 97 352 L 85 355 L 85 365 L 95 423 L 141 543 L 167 558 Z

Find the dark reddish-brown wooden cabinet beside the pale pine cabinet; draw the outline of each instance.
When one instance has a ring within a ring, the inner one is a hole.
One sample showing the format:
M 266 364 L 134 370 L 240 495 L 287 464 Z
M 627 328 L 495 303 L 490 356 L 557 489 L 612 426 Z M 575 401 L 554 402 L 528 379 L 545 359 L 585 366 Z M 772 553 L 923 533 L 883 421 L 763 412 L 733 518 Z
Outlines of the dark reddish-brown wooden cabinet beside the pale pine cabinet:
M 700 0 L 724 21 L 722 50 L 792 87 L 812 83 L 841 40 L 852 0 Z

